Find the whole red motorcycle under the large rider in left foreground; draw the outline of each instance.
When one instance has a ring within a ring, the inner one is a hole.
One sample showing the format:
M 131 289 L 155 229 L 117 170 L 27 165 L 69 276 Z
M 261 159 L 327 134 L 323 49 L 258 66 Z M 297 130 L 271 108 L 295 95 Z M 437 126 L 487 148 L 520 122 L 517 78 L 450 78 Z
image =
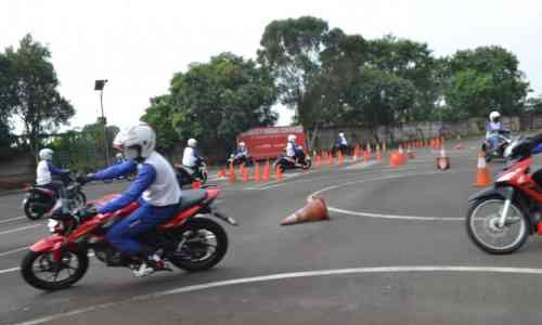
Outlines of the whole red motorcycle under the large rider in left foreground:
M 209 218 L 217 217 L 232 225 L 235 220 L 218 212 L 214 202 L 218 188 L 183 191 L 179 213 L 138 238 L 155 249 L 166 262 L 185 271 L 203 271 L 215 266 L 225 255 L 228 236 L 223 227 Z M 112 196 L 96 204 L 104 204 Z M 49 212 L 51 236 L 30 247 L 21 264 L 23 278 L 42 290 L 65 289 L 78 282 L 89 268 L 89 252 L 107 266 L 134 269 L 141 263 L 127 258 L 105 239 L 107 230 L 138 208 L 137 203 L 114 213 L 95 214 L 86 220 L 78 211 L 63 212 L 57 200 Z M 65 210 L 65 209 L 64 209 Z

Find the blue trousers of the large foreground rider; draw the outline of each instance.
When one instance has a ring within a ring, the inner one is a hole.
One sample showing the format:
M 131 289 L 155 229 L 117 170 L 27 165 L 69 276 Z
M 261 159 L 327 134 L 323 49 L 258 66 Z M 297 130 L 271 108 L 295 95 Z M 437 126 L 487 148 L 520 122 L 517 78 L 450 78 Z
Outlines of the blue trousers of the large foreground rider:
M 141 206 L 130 216 L 122 219 L 105 235 L 115 248 L 129 256 L 136 256 L 141 252 L 141 245 L 136 237 L 154 229 L 176 216 L 177 205 L 166 207 L 155 207 L 143 200 Z

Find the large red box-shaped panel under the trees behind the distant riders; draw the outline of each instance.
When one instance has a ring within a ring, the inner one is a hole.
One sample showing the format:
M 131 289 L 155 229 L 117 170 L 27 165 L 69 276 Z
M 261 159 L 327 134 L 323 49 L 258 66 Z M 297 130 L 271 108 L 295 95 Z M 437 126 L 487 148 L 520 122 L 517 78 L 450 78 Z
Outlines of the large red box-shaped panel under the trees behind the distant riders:
M 238 134 L 237 141 L 246 143 L 248 153 L 254 159 L 274 159 L 285 152 L 289 134 L 295 134 L 297 138 L 296 143 L 307 148 L 301 126 L 250 129 Z

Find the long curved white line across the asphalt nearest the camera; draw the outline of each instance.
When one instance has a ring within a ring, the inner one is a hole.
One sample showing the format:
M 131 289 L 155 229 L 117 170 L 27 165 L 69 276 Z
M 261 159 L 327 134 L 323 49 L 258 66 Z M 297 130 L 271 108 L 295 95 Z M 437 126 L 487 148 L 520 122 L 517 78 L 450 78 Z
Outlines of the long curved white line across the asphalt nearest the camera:
M 179 287 L 170 290 L 157 291 L 150 295 L 136 296 L 129 299 L 112 301 L 106 303 L 100 303 L 94 306 L 89 306 L 81 309 L 75 309 L 68 312 L 51 314 L 48 316 L 34 318 L 26 322 L 13 323 L 10 325 L 36 325 L 47 322 L 53 322 L 61 318 L 66 318 L 70 316 L 76 316 L 89 312 L 94 312 L 98 310 L 104 310 L 109 308 L 119 307 L 122 304 L 128 304 L 132 302 L 146 301 L 150 299 L 156 299 L 166 296 L 194 292 L 201 290 L 208 290 L 220 287 L 243 285 L 243 284 L 255 284 L 271 281 L 291 280 L 291 278 L 304 278 L 304 277 L 320 277 L 320 276 L 333 276 L 333 275 L 351 275 L 351 274 L 375 274 L 375 273 L 420 273 L 420 272 L 460 272 L 460 273 L 505 273 L 505 274 L 533 274 L 542 275 L 542 269 L 529 269 L 529 268 L 496 268 L 496 266 L 454 266 L 454 265 L 429 265 L 429 266 L 380 266 L 380 268 L 356 268 L 356 269 L 338 269 L 338 270 L 321 270 L 321 271 L 306 271 L 306 272 L 292 272 L 292 273 L 279 273 L 262 276 L 253 277 L 242 277 L 227 281 L 217 281 L 206 284 L 193 285 Z

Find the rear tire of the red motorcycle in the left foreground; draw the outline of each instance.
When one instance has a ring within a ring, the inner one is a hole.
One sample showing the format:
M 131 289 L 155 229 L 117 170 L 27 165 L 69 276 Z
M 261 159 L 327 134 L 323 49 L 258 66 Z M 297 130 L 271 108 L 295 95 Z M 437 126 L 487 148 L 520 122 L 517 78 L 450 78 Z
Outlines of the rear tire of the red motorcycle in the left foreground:
M 210 232 L 215 235 L 217 244 L 214 253 L 207 259 L 201 261 L 192 261 L 188 260 L 186 258 L 175 257 L 173 253 L 173 256 L 169 258 L 170 262 L 173 265 L 189 272 L 198 272 L 208 270 L 222 260 L 228 250 L 228 235 L 225 234 L 224 229 L 219 223 L 207 218 L 194 218 L 176 229 L 175 232 L 179 237 L 181 237 L 186 232 L 202 230 L 206 230 L 207 232 Z

